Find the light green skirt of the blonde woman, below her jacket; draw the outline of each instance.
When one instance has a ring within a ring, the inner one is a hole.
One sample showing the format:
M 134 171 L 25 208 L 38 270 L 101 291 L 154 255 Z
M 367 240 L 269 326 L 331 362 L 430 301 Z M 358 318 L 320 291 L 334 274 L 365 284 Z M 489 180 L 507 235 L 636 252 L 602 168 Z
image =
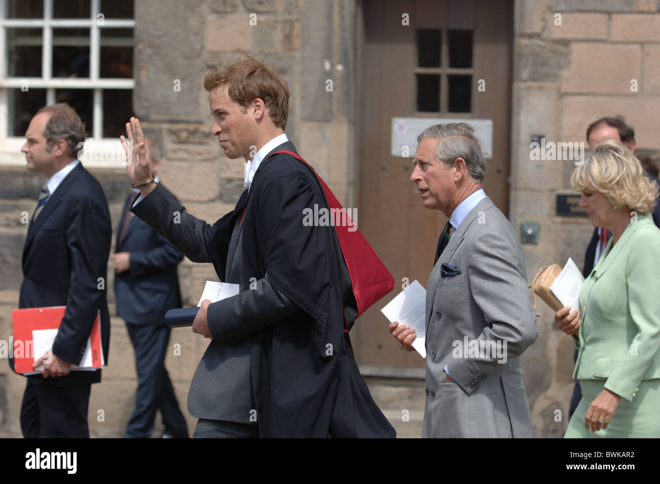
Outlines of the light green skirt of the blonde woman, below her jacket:
M 591 402 L 603 391 L 607 380 L 580 380 L 582 399 L 564 438 L 660 438 L 660 380 L 640 382 L 640 390 L 631 401 L 621 399 L 607 429 L 592 432 L 584 426 Z

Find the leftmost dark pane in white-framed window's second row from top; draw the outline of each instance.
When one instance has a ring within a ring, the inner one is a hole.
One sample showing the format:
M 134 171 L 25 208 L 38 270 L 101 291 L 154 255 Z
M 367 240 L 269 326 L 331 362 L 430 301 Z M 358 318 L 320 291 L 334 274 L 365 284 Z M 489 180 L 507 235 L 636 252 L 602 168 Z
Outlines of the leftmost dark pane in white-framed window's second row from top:
M 9 77 L 41 77 L 42 29 L 7 28 Z

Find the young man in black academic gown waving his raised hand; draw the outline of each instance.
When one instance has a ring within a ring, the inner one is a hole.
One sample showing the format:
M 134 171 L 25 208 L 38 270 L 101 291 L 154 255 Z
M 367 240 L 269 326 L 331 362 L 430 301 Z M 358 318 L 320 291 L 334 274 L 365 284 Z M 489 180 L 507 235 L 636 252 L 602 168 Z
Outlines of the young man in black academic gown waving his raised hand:
M 204 300 L 193 322 L 212 339 L 188 394 L 199 419 L 193 436 L 394 436 L 348 345 L 356 301 L 335 228 L 303 224 L 306 209 L 327 209 L 327 201 L 284 134 L 286 82 L 246 56 L 210 71 L 204 84 L 213 135 L 226 156 L 246 160 L 247 190 L 215 224 L 154 183 L 139 121 L 127 124 L 132 151 L 122 137 L 141 194 L 131 211 L 240 287 Z

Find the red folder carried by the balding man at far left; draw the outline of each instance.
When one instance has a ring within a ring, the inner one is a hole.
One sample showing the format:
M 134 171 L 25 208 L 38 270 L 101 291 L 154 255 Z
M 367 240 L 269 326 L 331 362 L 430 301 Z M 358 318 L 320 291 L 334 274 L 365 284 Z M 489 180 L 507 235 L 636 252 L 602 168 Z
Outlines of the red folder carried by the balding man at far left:
M 66 306 L 53 306 L 50 308 L 14 309 L 11 312 L 14 328 L 14 368 L 16 373 L 34 373 L 35 355 L 32 331 L 37 329 L 58 329 L 62 322 Z M 100 368 L 104 364 L 101 346 L 100 312 L 96 313 L 92 332 L 89 335 L 90 349 L 92 351 L 91 368 Z M 82 364 L 82 362 L 81 362 Z M 85 368 L 90 368 L 86 366 Z M 78 369 L 76 366 L 72 370 Z M 80 368 L 83 369 L 83 368 Z

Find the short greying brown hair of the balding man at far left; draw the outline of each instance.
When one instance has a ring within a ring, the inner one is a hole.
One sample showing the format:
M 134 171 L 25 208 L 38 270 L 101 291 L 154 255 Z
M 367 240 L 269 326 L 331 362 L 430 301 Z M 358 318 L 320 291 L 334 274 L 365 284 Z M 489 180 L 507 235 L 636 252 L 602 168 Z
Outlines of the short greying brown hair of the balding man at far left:
M 46 149 L 51 151 L 53 145 L 60 139 L 67 142 L 67 155 L 78 157 L 81 143 L 84 143 L 84 123 L 78 113 L 64 102 L 44 106 L 37 114 L 51 113 L 46 127 L 44 127 L 44 138 L 46 138 Z

